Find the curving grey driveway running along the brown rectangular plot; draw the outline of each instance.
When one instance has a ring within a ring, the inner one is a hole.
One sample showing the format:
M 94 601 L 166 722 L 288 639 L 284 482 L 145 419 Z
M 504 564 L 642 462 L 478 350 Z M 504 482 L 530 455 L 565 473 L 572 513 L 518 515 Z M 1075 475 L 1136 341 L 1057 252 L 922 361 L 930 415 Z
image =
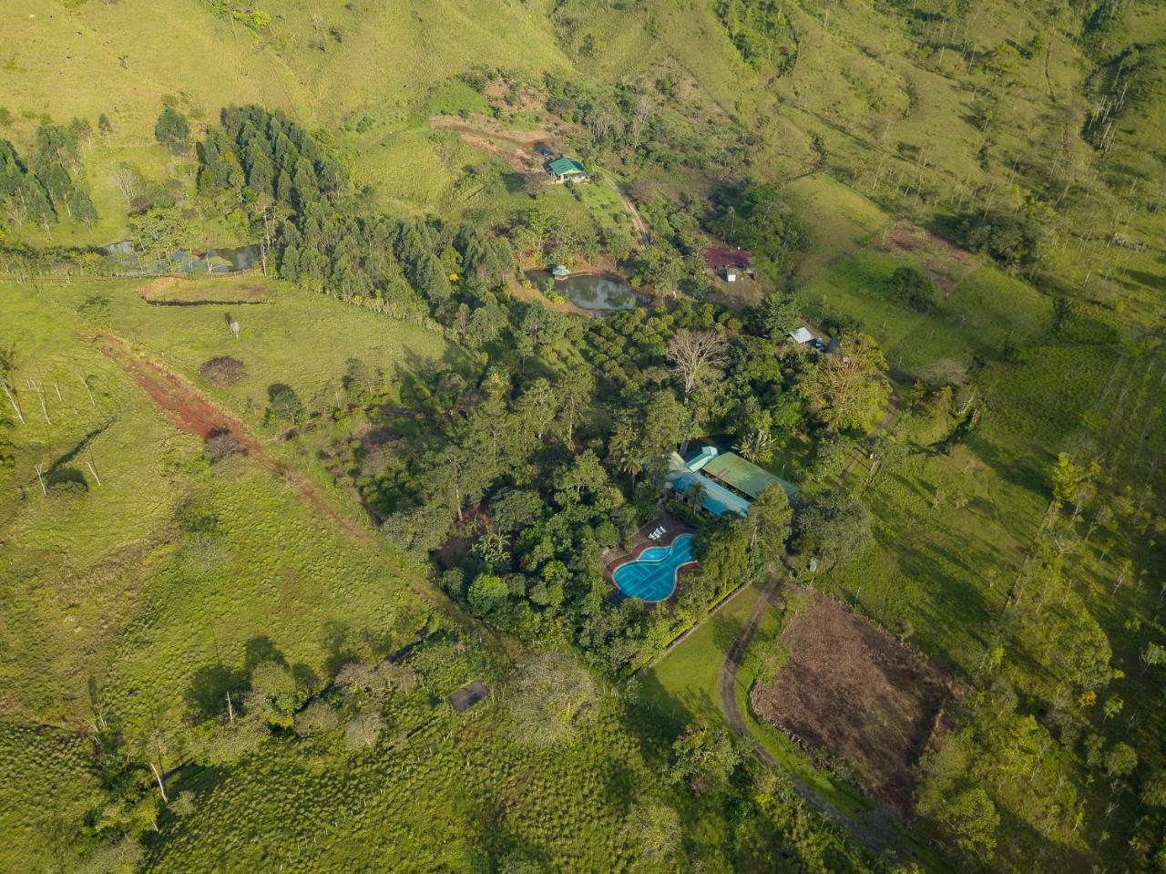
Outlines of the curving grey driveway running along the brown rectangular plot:
M 902 853 L 902 841 L 894 828 L 893 813 L 884 807 L 877 807 L 870 812 L 859 814 L 858 819 L 848 817 L 812 789 L 798 775 L 792 774 L 781 765 L 770 750 L 753 736 L 753 733 L 749 729 L 749 725 L 745 722 L 745 718 L 742 715 L 740 708 L 737 706 L 737 671 L 740 667 L 742 658 L 745 656 L 745 650 L 749 649 L 757 627 L 761 622 L 761 617 L 773 601 L 777 588 L 777 576 L 771 576 L 765 586 L 761 587 L 757 601 L 753 602 L 753 607 L 745 618 L 745 624 L 742 625 L 737 638 L 732 642 L 732 646 L 729 648 L 729 655 L 721 667 L 721 709 L 724 713 L 725 720 L 729 722 L 729 727 L 733 730 L 733 734 L 740 739 L 745 748 L 758 761 L 771 770 L 788 775 L 794 791 L 798 792 L 802 800 L 819 810 L 854 840 L 877 854 L 886 852 Z

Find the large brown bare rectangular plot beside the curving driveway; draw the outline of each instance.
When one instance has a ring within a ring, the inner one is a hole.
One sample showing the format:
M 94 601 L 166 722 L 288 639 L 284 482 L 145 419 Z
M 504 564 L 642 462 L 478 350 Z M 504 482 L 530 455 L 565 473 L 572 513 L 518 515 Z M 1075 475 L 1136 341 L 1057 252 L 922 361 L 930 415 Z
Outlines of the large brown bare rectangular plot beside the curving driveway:
M 868 795 L 909 818 L 915 764 L 961 694 L 954 679 L 820 592 L 781 639 L 789 660 L 753 688 L 754 712 L 812 755 L 843 760 Z

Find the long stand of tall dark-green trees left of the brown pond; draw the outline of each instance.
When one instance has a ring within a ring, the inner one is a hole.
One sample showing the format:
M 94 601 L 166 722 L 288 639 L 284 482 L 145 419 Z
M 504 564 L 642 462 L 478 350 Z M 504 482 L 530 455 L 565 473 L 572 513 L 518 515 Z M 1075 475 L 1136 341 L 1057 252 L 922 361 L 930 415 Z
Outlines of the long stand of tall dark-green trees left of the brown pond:
M 400 319 L 427 315 L 492 340 L 492 292 L 514 270 L 504 237 L 464 225 L 407 222 L 361 205 L 343 165 L 282 113 L 223 111 L 198 145 L 199 190 L 255 216 L 280 274 Z M 461 315 L 465 308 L 464 317 Z

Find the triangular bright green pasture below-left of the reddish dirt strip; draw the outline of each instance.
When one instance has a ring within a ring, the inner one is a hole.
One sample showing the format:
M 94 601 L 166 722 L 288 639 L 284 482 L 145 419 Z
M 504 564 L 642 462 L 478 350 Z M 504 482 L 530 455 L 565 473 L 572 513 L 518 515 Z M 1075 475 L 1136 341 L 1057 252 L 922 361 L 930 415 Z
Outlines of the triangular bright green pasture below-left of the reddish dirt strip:
M 142 315 L 171 309 L 135 298 L 127 306 Z M 201 672 L 236 669 L 255 642 L 302 665 L 310 686 L 338 651 L 412 636 L 426 614 L 412 572 L 266 467 L 241 455 L 208 466 L 202 440 L 155 408 L 68 307 L 28 286 L 6 287 L 0 307 L 0 323 L 24 328 L 5 343 L 28 410 L 0 517 L 10 712 L 69 727 L 100 713 L 129 736 L 147 723 L 167 730 L 198 697 Z M 44 415 L 29 378 L 45 389 Z

